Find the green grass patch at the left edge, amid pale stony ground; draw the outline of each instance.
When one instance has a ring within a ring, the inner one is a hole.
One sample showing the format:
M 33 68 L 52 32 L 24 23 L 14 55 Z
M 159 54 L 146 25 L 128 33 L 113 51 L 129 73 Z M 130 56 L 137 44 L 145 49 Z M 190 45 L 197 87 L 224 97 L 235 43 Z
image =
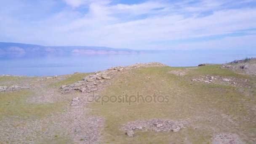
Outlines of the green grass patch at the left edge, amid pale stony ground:
M 0 118 L 41 118 L 63 110 L 64 102 L 30 104 L 26 102 L 31 91 L 0 93 Z

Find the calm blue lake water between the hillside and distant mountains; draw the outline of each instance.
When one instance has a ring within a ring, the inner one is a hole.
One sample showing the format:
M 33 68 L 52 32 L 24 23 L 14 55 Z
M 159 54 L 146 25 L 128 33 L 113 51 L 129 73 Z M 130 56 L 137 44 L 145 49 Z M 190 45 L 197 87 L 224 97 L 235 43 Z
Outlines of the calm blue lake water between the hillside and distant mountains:
M 202 63 L 223 64 L 246 55 L 144 53 L 129 55 L 46 56 L 39 58 L 0 59 L 0 75 L 53 76 L 74 72 L 95 72 L 115 66 L 160 62 L 171 67 L 197 66 Z M 256 57 L 256 55 L 250 55 Z

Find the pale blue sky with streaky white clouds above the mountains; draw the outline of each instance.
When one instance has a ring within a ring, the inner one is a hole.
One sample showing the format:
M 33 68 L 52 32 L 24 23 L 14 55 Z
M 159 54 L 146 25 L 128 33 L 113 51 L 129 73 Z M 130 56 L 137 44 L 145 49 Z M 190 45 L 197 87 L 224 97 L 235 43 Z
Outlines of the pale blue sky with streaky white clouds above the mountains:
M 1 0 L 0 41 L 256 53 L 256 0 Z

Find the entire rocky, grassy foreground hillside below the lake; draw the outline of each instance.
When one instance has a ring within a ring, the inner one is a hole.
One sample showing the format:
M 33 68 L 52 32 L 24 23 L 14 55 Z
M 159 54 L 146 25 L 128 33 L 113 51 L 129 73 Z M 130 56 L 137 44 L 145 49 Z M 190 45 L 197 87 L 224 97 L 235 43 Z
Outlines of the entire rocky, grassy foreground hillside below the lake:
M 256 60 L 160 63 L 53 77 L 0 76 L 0 143 L 255 143 Z M 95 103 L 92 93 L 168 95 Z

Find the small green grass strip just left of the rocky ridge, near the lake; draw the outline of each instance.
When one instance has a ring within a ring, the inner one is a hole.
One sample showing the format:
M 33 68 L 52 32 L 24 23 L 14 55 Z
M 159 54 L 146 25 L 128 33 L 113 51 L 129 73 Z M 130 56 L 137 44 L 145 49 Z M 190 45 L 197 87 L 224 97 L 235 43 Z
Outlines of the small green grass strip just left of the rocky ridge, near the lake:
M 67 77 L 65 80 L 61 80 L 57 83 L 52 83 L 51 85 L 49 85 L 50 87 L 58 87 L 61 85 L 71 85 L 75 82 L 77 82 L 78 80 L 83 80 L 83 77 L 86 77 L 88 75 L 91 75 L 93 73 L 77 73 L 77 74 L 73 74 L 70 75 L 69 77 Z

